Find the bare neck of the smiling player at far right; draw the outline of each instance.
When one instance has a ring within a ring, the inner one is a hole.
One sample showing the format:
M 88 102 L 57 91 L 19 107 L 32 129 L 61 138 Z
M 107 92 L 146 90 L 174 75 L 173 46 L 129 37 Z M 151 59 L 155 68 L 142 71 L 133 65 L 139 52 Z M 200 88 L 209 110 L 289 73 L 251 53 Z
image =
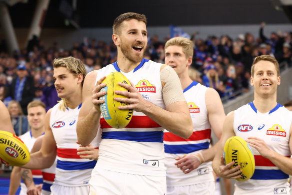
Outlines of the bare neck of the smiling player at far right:
M 276 94 L 270 97 L 260 97 L 254 94 L 253 104 L 260 113 L 269 112 L 277 105 Z

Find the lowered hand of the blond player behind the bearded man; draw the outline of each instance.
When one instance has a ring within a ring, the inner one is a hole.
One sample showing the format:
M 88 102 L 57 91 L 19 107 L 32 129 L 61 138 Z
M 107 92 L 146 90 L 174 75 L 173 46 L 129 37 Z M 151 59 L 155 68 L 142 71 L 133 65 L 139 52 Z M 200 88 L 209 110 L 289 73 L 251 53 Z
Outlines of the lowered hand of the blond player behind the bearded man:
M 174 165 L 176 165 L 177 168 L 180 168 L 183 173 L 189 173 L 200 165 L 199 160 L 191 154 L 184 154 L 181 157 L 178 156 L 175 160 L 177 161 Z

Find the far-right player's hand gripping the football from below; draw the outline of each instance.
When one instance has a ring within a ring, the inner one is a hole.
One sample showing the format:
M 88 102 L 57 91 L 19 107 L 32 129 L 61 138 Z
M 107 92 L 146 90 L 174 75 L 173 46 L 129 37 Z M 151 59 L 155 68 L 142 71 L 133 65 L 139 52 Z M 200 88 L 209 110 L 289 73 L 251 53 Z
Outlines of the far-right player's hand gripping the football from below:
M 241 176 L 239 173 L 241 173 L 241 170 L 238 170 L 240 168 L 240 165 L 237 165 L 233 167 L 233 164 L 235 162 L 232 161 L 229 164 L 224 164 L 224 158 L 221 156 L 221 164 L 219 166 L 219 172 L 216 172 L 218 176 L 220 177 L 225 177 L 225 178 L 231 178 L 231 179 L 237 179 L 240 178 Z M 229 169 L 230 167 L 233 167 Z

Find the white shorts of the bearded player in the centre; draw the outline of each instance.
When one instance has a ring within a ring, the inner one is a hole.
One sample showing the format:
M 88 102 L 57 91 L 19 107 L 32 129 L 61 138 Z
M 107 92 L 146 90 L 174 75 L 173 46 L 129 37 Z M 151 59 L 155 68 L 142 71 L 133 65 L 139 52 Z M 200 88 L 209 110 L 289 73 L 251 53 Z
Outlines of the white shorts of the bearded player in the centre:
M 145 176 L 94 168 L 89 180 L 89 195 L 164 195 L 165 176 Z

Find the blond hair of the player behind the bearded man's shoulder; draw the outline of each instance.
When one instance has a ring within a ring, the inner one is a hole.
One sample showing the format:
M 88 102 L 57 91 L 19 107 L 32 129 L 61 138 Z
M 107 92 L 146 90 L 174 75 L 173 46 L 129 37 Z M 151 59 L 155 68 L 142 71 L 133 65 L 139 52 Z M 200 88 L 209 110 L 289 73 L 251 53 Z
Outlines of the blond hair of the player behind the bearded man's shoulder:
M 166 50 L 166 48 L 169 46 L 182 47 L 182 52 L 185 54 L 186 58 L 193 56 L 193 43 L 187 38 L 183 38 L 183 37 L 171 38 L 165 43 L 164 50 Z

